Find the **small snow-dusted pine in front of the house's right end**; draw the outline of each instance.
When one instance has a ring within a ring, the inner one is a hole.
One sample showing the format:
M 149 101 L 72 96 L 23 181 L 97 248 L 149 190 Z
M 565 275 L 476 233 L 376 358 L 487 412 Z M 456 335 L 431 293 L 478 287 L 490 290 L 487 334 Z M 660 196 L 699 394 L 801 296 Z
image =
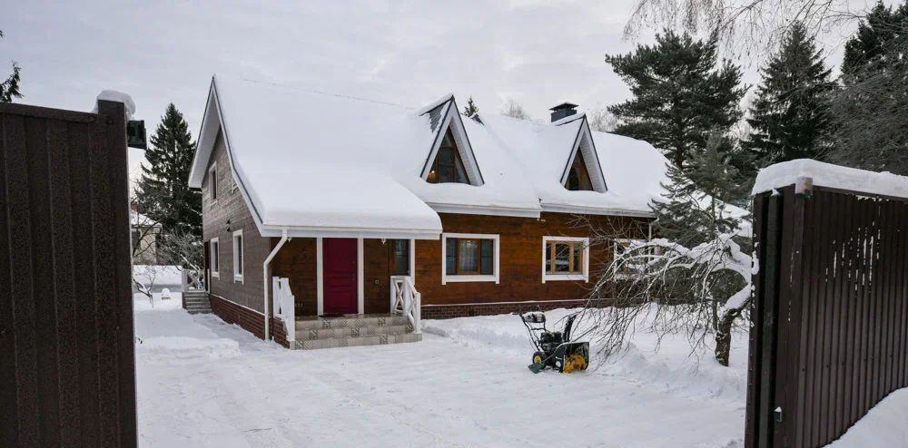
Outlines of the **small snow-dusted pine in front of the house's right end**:
M 725 204 L 745 196 L 746 184 L 732 163 L 731 145 L 729 138 L 712 134 L 687 170 L 668 164 L 668 183 L 662 185 L 666 201 L 650 206 L 660 238 L 693 248 L 737 228 L 739 221 L 728 215 Z

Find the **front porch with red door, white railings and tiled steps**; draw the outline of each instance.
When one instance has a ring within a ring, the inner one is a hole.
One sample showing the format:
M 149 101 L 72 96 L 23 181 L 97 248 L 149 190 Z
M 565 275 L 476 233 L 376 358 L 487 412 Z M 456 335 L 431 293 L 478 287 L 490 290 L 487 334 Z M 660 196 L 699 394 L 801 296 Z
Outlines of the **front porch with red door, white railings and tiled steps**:
M 412 239 L 290 239 L 271 262 L 275 336 L 296 349 L 417 342 Z M 280 320 L 278 320 L 280 319 Z

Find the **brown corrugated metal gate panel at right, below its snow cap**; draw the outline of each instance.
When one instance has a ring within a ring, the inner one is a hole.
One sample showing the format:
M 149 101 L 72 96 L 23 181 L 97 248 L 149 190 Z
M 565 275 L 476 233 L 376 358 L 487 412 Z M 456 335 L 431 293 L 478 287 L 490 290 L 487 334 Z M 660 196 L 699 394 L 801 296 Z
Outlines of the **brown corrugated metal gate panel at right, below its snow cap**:
M 808 184 L 754 200 L 746 446 L 822 446 L 908 386 L 908 201 Z

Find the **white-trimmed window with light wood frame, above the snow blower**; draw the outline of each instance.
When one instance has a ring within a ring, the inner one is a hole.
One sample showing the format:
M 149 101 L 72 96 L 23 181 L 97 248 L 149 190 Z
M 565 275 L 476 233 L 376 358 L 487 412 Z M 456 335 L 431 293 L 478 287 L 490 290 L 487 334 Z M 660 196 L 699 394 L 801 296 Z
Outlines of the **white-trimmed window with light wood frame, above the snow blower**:
M 589 239 L 542 237 L 542 283 L 589 281 Z

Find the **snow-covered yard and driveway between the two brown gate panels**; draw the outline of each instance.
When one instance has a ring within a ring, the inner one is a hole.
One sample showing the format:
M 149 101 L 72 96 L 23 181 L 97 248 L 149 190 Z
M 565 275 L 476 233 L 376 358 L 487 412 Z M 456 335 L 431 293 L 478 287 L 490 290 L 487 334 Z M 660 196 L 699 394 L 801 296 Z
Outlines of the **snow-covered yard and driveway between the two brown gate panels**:
M 549 313 L 552 317 L 566 312 Z M 515 316 L 426 321 L 416 344 L 288 351 L 212 315 L 137 307 L 143 446 L 734 447 L 746 353 L 635 346 L 582 374 L 533 375 Z

